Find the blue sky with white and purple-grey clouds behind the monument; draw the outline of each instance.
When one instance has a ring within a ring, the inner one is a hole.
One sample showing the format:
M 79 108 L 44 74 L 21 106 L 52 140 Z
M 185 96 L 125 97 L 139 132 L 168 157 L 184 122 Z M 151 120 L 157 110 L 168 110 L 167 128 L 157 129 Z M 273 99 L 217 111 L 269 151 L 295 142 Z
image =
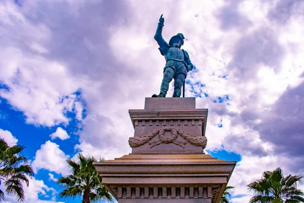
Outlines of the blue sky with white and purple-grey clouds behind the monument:
M 164 39 L 182 32 L 196 67 L 185 94 L 209 109 L 207 152 L 237 161 L 232 202 L 248 202 L 263 171 L 304 173 L 303 10 L 300 0 L 1 0 L 0 136 L 27 147 L 26 202 L 74 202 L 54 180 L 78 152 L 131 152 L 128 110 L 162 80 L 161 14 Z

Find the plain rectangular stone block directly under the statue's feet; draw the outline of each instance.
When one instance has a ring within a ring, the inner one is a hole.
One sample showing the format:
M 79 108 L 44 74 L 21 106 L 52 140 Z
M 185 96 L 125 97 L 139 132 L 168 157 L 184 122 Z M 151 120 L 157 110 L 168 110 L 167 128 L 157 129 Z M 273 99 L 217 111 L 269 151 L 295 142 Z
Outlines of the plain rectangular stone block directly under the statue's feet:
M 144 110 L 189 111 L 195 109 L 195 97 L 145 98 Z

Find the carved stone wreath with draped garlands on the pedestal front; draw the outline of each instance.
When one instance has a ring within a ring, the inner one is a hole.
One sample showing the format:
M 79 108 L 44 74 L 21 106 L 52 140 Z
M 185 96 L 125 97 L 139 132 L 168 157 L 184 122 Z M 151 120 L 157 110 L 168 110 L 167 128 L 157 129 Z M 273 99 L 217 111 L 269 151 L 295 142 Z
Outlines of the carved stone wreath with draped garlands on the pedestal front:
M 167 131 L 171 132 L 171 135 L 166 137 L 165 132 L 167 132 Z M 148 142 L 149 140 L 151 140 L 152 138 L 157 136 L 157 134 L 159 136 L 159 140 L 154 141 L 154 142 Z M 175 129 L 172 127 L 158 129 L 156 131 L 146 134 L 145 136 L 140 136 L 137 138 L 132 137 L 129 139 L 129 145 L 130 145 L 130 147 L 138 147 L 138 146 L 141 146 L 148 142 L 148 144 L 150 145 L 150 148 L 160 145 L 162 143 L 166 143 L 166 144 L 174 143 L 176 145 L 184 147 L 183 145 L 185 145 L 186 142 L 177 140 L 176 139 L 177 134 L 179 134 L 182 138 L 184 138 L 190 144 L 193 144 L 196 146 L 202 146 L 203 149 L 205 149 L 205 147 L 207 145 L 206 137 L 193 136 L 192 134 L 186 133 L 185 131 Z

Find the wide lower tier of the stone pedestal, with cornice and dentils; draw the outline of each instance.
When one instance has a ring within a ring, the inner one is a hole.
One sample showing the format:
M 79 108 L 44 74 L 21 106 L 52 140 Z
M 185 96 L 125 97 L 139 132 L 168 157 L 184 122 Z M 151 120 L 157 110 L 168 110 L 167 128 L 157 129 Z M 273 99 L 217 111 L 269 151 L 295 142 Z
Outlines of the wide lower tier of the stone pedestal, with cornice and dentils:
M 119 203 L 218 202 L 235 164 L 207 154 L 130 154 L 94 163 Z

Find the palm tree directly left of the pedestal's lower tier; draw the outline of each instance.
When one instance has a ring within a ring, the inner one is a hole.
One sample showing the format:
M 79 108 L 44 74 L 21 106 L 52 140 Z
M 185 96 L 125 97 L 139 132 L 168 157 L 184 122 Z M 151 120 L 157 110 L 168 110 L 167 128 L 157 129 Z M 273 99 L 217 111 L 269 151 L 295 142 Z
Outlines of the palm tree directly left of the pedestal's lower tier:
M 64 188 L 59 193 L 60 198 L 75 198 L 83 196 L 82 203 L 91 201 L 112 200 L 111 194 L 101 184 L 101 177 L 97 173 L 93 162 L 97 160 L 94 157 L 86 158 L 82 153 L 78 153 L 78 162 L 67 159 L 71 175 L 61 177 L 57 183 Z M 100 162 L 104 159 L 100 159 Z

